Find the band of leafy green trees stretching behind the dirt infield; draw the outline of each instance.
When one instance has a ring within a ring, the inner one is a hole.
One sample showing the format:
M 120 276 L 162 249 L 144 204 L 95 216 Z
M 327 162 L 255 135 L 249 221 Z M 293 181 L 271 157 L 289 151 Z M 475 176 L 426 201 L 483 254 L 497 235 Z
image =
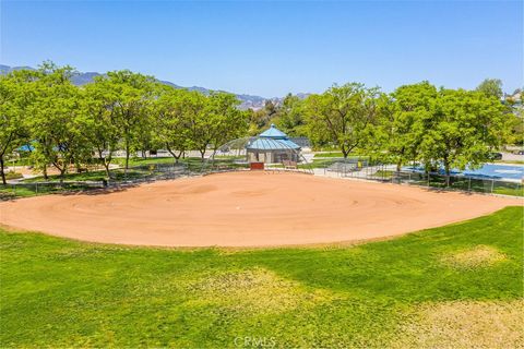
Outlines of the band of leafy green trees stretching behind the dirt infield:
M 314 146 L 335 146 L 344 157 L 360 152 L 389 164 L 416 161 L 431 168 L 477 167 L 508 142 L 522 143 L 522 101 L 502 101 L 501 82 L 485 80 L 476 91 L 437 88 L 429 82 L 391 94 L 360 83 L 333 85 L 307 98 L 287 95 L 263 109 L 239 110 L 235 95 L 175 88 L 128 70 L 108 72 L 75 86 L 75 70 L 44 62 L 38 70 L 0 76 L 0 174 L 24 144 L 47 176 L 63 176 L 98 163 L 109 177 L 117 151 L 126 155 L 165 148 L 178 161 L 188 151 L 218 148 L 254 135 L 274 122 Z

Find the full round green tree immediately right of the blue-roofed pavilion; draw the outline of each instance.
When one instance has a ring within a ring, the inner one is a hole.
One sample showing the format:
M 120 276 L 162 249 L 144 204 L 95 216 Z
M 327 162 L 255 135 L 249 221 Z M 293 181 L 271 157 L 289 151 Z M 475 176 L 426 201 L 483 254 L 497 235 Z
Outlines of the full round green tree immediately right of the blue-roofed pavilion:
M 379 117 L 380 95 L 378 87 L 348 83 L 309 96 L 306 113 L 310 137 L 317 143 L 330 140 L 347 158 L 353 149 L 370 141 Z

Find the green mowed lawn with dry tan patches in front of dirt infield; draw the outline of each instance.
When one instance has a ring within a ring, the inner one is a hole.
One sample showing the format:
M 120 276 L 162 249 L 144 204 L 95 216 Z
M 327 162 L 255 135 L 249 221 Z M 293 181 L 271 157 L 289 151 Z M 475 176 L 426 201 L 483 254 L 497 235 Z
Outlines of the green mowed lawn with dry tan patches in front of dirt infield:
M 524 346 L 523 208 L 353 246 L 0 232 L 0 347 Z

